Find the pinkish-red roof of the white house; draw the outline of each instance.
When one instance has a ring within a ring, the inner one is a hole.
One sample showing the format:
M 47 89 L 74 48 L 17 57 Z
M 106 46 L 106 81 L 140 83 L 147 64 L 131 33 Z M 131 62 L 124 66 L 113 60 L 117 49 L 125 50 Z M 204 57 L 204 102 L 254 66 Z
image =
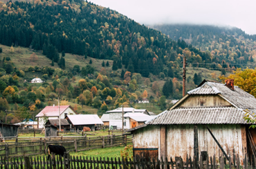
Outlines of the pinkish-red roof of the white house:
M 60 106 L 60 115 L 67 109 L 71 108 L 74 112 L 75 110 L 71 106 Z M 75 112 L 77 114 L 77 112 Z M 41 112 L 37 114 L 36 117 L 43 117 L 46 115 L 46 117 L 53 117 L 53 116 L 59 116 L 59 106 L 46 106 Z

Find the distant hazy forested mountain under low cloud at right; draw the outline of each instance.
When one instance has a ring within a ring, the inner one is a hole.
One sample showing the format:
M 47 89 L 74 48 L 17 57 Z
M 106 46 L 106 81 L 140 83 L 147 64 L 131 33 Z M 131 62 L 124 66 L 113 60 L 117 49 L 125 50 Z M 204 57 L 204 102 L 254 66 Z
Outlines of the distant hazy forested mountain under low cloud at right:
M 209 51 L 213 63 L 211 68 L 217 68 L 215 63 L 219 63 L 221 67 L 226 63 L 230 68 L 255 67 L 256 34 L 246 34 L 239 28 L 206 25 L 174 24 L 149 27 L 160 30 L 178 43 L 185 41 L 201 51 Z

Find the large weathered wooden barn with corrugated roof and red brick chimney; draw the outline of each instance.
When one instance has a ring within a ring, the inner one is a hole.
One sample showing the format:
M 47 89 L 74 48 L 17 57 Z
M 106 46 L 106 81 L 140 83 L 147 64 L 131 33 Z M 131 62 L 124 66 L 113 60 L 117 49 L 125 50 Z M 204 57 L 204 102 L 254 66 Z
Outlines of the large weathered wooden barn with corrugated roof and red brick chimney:
M 134 135 L 134 155 L 185 159 L 206 151 L 211 157 L 233 157 L 234 152 L 240 159 L 251 157 L 256 132 L 244 121 L 244 110 L 256 112 L 256 99 L 233 80 L 204 80 L 169 110 L 128 130 Z

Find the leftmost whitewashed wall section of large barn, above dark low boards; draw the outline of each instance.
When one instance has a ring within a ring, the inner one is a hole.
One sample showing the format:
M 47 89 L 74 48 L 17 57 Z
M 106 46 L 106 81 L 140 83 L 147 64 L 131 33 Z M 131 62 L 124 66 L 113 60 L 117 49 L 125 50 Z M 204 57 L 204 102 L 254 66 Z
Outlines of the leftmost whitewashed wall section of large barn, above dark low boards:
M 134 148 L 159 148 L 159 126 L 147 126 L 134 132 Z

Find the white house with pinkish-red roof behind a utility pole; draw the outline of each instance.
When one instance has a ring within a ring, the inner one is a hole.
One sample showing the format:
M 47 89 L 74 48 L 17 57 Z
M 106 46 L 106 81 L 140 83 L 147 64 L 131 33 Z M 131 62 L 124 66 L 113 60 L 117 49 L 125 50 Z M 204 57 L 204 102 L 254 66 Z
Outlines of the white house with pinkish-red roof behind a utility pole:
M 64 119 L 66 115 L 77 115 L 77 112 L 71 106 L 60 106 L 60 119 Z M 44 128 L 44 123 L 48 119 L 59 119 L 58 106 L 46 106 L 37 114 L 38 128 Z

